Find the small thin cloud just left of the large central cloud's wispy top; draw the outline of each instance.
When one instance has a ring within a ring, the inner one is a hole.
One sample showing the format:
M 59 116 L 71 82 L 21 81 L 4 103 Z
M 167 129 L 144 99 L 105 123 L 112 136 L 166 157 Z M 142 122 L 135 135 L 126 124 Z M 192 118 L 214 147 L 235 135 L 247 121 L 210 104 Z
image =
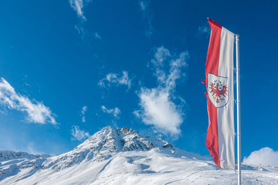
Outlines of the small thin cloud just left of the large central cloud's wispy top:
M 129 79 L 129 73 L 122 71 L 122 76 L 116 73 L 108 73 L 105 78 L 99 80 L 98 85 L 100 87 L 108 88 L 112 85 L 126 85 L 128 89 L 131 87 L 131 79 Z

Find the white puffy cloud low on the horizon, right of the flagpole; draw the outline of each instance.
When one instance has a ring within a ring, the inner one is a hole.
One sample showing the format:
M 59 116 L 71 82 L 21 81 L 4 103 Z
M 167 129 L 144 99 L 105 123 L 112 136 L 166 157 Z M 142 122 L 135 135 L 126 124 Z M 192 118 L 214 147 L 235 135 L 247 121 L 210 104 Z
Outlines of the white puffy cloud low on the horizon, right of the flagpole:
M 278 167 L 278 151 L 272 148 L 261 148 L 244 157 L 243 164 L 254 166 L 275 166 Z

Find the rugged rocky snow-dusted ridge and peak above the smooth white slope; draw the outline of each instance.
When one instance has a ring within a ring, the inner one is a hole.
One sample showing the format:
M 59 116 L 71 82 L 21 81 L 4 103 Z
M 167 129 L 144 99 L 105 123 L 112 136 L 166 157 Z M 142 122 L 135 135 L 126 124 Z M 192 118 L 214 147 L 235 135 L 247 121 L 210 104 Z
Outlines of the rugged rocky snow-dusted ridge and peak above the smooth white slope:
M 155 140 L 153 139 L 153 141 Z M 18 172 L 22 168 L 33 167 L 38 170 L 51 168 L 54 171 L 59 171 L 80 164 L 83 161 L 103 161 L 111 158 L 117 152 L 131 150 L 145 151 L 152 148 L 173 149 L 170 143 L 162 139 L 156 139 L 155 143 L 156 145 L 147 141 L 130 128 L 123 127 L 115 130 L 113 127 L 108 126 L 90 136 L 90 138 L 74 148 L 74 150 L 54 157 L 0 150 L 0 161 L 15 159 L 10 161 L 10 163 L 16 164 L 10 166 L 10 168 L 0 168 L 0 180 Z M 172 151 L 174 152 L 174 150 Z

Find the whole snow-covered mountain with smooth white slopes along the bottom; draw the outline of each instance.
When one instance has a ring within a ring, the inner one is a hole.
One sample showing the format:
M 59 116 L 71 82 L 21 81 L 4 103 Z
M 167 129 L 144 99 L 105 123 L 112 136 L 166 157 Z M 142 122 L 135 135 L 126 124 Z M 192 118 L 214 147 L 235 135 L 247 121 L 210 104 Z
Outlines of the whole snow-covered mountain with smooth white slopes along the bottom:
M 243 166 L 243 184 L 278 184 L 278 168 Z M 62 155 L 0 150 L 0 184 L 236 184 L 234 170 L 140 136 L 104 127 Z

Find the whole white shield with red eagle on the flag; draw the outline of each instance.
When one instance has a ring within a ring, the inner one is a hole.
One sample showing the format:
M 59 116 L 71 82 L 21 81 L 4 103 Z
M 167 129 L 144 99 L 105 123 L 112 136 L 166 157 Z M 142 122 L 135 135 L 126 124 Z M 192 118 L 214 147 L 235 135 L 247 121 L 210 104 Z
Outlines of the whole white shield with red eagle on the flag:
M 216 108 L 224 107 L 229 101 L 227 77 L 208 73 L 208 98 Z

